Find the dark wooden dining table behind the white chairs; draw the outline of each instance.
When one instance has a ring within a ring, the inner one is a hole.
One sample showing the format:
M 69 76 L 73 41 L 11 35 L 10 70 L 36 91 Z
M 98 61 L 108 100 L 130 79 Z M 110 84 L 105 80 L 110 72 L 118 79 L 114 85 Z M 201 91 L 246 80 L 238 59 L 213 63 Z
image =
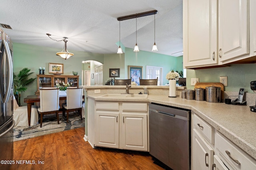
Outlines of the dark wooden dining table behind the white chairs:
M 67 96 L 66 95 L 60 95 L 60 101 L 61 100 L 66 100 Z M 83 96 L 84 99 L 84 96 Z M 30 95 L 24 98 L 24 103 L 27 104 L 28 107 L 28 126 L 30 127 L 30 119 L 31 119 L 31 107 L 34 105 L 34 103 L 40 102 L 40 96 L 39 95 Z

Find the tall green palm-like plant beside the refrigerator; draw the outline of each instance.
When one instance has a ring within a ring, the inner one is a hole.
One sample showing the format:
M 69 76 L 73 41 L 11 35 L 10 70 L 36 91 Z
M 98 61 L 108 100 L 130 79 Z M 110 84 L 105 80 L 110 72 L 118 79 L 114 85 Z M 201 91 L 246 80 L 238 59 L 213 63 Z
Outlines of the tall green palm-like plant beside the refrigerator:
M 31 74 L 34 72 L 30 72 L 30 69 L 23 68 L 16 75 L 13 73 L 13 87 L 14 87 L 14 95 L 18 95 L 18 105 L 20 106 L 20 94 L 21 92 L 25 92 L 27 90 L 26 86 L 29 86 L 36 80 L 36 78 L 29 78 Z

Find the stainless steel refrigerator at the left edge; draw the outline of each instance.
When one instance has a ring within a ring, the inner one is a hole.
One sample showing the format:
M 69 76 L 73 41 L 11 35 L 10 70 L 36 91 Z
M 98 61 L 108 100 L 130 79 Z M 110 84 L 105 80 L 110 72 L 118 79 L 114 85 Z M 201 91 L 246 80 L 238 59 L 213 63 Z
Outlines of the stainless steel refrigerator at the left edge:
M 13 68 L 12 42 L 0 29 L 0 169 L 13 159 Z M 5 162 L 3 162 L 3 161 Z

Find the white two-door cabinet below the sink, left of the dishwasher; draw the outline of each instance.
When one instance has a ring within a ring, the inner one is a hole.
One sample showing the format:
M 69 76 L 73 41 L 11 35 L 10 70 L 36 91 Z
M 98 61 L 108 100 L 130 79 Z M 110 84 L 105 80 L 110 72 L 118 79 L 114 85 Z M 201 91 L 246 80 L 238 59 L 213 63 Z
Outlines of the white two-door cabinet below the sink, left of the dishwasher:
M 95 101 L 95 146 L 148 151 L 148 104 Z

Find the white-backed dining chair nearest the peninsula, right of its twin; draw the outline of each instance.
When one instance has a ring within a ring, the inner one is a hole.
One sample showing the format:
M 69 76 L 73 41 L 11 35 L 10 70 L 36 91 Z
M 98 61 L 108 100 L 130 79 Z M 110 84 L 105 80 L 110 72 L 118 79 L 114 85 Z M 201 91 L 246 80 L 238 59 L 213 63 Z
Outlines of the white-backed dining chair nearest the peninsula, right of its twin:
M 78 111 L 82 120 L 82 100 L 83 100 L 83 89 L 82 88 L 67 88 L 67 99 L 66 104 L 62 105 L 62 115 L 65 116 L 67 111 L 67 122 L 68 113 L 70 111 Z

